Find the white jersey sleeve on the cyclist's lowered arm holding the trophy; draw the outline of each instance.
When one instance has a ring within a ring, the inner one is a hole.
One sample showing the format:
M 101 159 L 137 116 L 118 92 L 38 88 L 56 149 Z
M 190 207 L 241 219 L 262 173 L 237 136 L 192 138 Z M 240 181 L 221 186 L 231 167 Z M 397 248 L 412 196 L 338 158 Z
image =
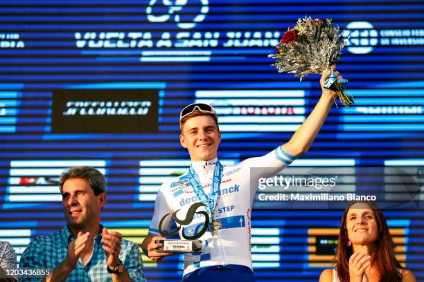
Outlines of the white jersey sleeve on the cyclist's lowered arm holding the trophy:
M 170 188 L 168 182 L 165 182 L 161 185 L 159 191 L 157 192 L 156 201 L 154 202 L 153 218 L 149 227 L 150 236 L 161 236 L 159 233 L 159 223 L 161 222 L 161 219 L 166 216 L 166 214 L 168 214 L 168 216 L 166 216 L 164 222 L 162 223 L 162 229 L 168 230 L 171 227 L 173 219 L 173 208 L 166 198 L 166 193 L 170 193 L 169 190 Z

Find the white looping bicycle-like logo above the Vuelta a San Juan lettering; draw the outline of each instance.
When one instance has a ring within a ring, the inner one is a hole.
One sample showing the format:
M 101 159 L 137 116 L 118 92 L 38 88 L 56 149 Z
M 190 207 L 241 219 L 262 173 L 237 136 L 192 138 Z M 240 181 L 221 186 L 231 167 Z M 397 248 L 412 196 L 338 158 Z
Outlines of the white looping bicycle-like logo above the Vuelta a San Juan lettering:
M 145 9 L 152 23 L 174 21 L 179 28 L 194 28 L 209 12 L 208 0 L 150 0 Z

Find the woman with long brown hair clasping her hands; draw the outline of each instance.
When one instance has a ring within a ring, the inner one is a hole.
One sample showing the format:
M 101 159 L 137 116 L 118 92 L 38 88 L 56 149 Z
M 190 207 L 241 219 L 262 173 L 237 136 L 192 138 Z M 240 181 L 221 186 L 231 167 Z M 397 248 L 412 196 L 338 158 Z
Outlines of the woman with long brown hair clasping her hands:
M 353 202 L 344 210 L 335 261 L 319 282 L 416 281 L 396 260 L 386 218 L 371 203 Z

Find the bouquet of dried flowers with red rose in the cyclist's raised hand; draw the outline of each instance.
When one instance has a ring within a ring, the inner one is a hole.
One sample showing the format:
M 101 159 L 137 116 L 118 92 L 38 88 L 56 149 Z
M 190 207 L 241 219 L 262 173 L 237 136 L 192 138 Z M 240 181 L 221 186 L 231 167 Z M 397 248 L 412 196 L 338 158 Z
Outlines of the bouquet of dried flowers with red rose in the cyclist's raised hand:
M 348 39 L 343 40 L 338 26 L 333 26 L 331 19 L 299 19 L 294 28 L 288 28 L 284 33 L 276 54 L 268 57 L 276 59 L 279 73 L 294 73 L 303 77 L 310 73 L 321 74 L 335 64 L 342 55 L 342 49 Z M 353 97 L 343 84 L 347 79 L 337 79 L 333 70 L 326 79 L 324 88 L 332 89 L 344 106 L 353 104 Z M 337 105 L 337 104 L 336 104 Z

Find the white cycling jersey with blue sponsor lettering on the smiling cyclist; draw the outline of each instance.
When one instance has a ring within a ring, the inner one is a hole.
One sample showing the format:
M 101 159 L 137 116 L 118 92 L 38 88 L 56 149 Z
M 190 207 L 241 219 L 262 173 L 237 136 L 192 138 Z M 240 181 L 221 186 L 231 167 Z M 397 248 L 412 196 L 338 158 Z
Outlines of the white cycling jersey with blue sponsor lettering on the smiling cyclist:
M 209 195 L 213 170 L 218 159 L 192 162 L 193 169 L 202 184 L 204 192 Z M 200 267 L 213 265 L 245 265 L 252 269 L 250 252 L 250 214 L 254 201 L 258 178 L 266 178 L 284 169 L 294 160 L 294 156 L 285 153 L 281 147 L 258 158 L 249 158 L 238 164 L 228 165 L 222 171 L 220 193 L 214 209 L 215 229 L 213 236 L 206 232 L 199 240 L 205 242 L 202 253 L 184 255 L 184 274 Z M 180 209 L 177 217 L 184 219 L 188 208 L 200 202 L 191 187 L 187 173 L 164 182 L 159 188 L 154 214 L 150 223 L 149 235 L 159 234 L 159 222 L 166 214 L 162 229 L 170 231 L 172 213 Z M 206 211 L 204 207 L 198 208 Z M 195 216 L 184 229 L 188 236 L 197 234 L 204 225 L 202 214 Z M 173 228 L 172 228 L 173 229 Z M 179 230 L 182 237 L 182 228 Z

